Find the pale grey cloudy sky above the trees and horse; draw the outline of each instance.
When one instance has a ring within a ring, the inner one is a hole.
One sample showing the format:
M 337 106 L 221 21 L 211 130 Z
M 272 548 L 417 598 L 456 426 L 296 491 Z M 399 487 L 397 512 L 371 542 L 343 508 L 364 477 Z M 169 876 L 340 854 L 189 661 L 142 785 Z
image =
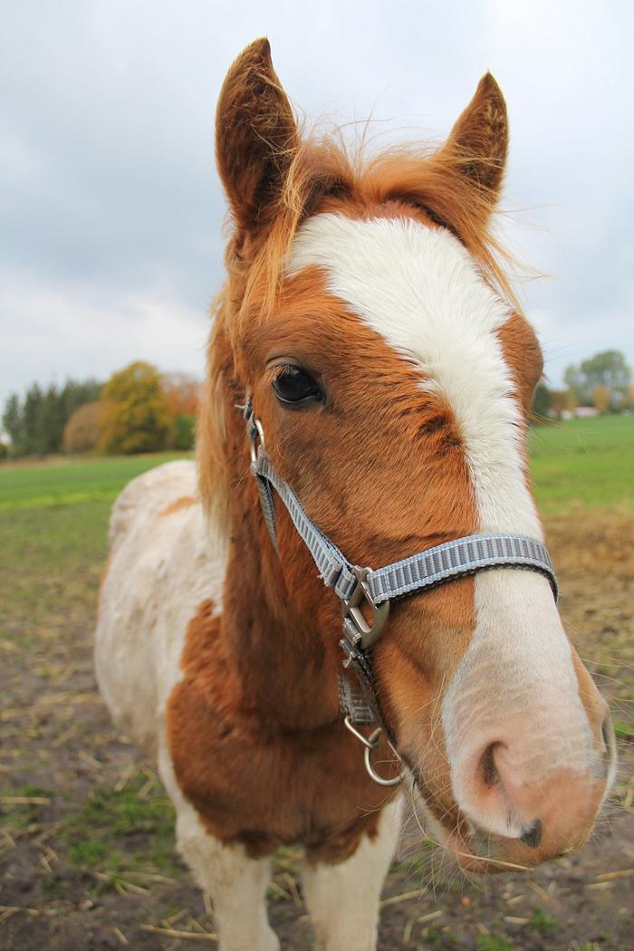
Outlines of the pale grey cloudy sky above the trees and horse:
M 634 5 L 610 0 L 21 0 L 0 35 L 0 401 L 132 359 L 202 376 L 221 283 L 223 75 L 267 34 L 294 104 L 445 135 L 490 69 L 512 248 L 547 371 L 634 363 Z

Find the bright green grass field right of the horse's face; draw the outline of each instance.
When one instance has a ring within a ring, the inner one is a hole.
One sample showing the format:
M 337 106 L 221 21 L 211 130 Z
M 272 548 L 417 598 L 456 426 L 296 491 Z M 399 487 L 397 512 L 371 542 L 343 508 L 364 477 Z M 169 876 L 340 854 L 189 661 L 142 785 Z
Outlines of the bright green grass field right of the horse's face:
M 634 512 L 634 416 L 535 426 L 528 448 L 530 476 L 544 512 L 561 512 L 575 503 Z

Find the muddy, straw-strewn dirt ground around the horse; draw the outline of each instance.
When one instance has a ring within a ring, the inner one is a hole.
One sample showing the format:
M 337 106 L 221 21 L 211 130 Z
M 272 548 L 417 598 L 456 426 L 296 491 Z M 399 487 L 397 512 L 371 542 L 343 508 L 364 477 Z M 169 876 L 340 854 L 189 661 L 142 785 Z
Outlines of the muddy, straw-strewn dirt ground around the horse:
M 634 518 L 579 510 L 550 519 L 548 535 L 567 631 L 618 725 L 612 802 L 581 854 L 487 881 L 448 872 L 409 836 L 383 895 L 382 951 L 634 948 Z M 51 581 L 46 597 L 60 607 L 29 636 L 18 636 L 24 605 L 4 618 L 0 948 L 215 947 L 213 914 L 175 855 L 171 806 L 154 768 L 111 727 L 95 689 L 99 570 L 88 563 Z M 28 596 L 37 595 L 25 589 Z M 299 859 L 294 850 L 279 855 L 269 896 L 282 948 L 293 951 L 312 946 Z

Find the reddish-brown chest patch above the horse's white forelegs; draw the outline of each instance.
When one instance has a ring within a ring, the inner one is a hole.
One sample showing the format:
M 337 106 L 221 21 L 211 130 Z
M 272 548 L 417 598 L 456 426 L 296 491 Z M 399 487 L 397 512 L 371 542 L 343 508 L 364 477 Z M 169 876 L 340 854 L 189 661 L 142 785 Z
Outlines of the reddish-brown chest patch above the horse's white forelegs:
M 194 674 L 167 709 L 174 770 L 208 831 L 252 855 L 301 843 L 332 861 L 372 834 L 391 795 L 369 779 L 342 724 L 288 732 L 232 710 Z

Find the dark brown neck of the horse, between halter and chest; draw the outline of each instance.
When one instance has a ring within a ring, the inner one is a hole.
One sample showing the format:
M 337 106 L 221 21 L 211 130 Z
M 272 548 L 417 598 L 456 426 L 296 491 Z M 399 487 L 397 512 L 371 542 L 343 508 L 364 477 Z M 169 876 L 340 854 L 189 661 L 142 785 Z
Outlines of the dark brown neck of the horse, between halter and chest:
M 282 564 L 263 521 L 255 479 L 243 475 L 242 456 L 237 454 L 242 475 L 232 480 L 222 608 L 230 663 L 245 702 L 267 722 L 281 728 L 324 727 L 339 718 L 336 627 L 325 637 L 320 634 L 324 590 L 310 570 L 310 555 L 297 538 L 293 568 Z

